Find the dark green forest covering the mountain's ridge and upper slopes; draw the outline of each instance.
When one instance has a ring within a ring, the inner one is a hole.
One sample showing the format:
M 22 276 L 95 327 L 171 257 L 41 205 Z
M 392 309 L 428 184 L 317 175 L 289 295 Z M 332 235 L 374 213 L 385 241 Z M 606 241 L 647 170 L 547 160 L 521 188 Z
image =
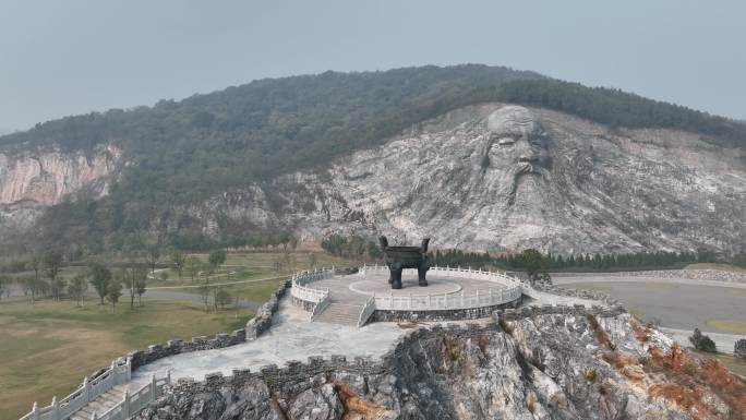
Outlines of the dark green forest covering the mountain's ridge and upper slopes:
M 100 242 L 147 231 L 154 219 L 173 219 L 175 205 L 313 168 L 420 121 L 486 101 L 561 110 L 611 127 L 682 129 L 723 147 L 746 144 L 745 125 L 681 106 L 532 72 L 457 65 L 255 81 L 153 107 L 39 123 L 1 136 L 0 151 L 92 153 L 116 143 L 128 165 L 117 172 L 108 197 L 83 194 L 40 219 L 47 239 Z M 117 248 L 122 240 L 111 243 Z

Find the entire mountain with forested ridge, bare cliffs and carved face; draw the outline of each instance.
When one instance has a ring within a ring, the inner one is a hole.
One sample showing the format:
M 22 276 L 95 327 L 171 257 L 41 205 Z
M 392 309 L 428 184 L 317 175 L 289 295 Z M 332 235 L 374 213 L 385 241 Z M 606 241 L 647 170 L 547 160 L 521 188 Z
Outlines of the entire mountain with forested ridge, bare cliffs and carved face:
M 93 251 L 291 229 L 733 253 L 745 140 L 732 120 L 506 68 L 327 72 L 0 137 L 0 226 Z

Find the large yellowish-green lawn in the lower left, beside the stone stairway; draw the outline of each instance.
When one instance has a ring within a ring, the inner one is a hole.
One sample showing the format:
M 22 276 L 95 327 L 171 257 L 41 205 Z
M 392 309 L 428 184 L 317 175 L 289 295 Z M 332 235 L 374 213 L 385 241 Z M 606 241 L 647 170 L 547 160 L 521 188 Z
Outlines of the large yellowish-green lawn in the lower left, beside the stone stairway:
M 143 300 L 130 311 L 88 300 L 0 303 L 0 419 L 15 419 L 34 400 L 47 405 L 64 397 L 83 376 L 112 359 L 171 338 L 214 335 L 242 327 L 249 311 L 206 313 L 196 303 Z

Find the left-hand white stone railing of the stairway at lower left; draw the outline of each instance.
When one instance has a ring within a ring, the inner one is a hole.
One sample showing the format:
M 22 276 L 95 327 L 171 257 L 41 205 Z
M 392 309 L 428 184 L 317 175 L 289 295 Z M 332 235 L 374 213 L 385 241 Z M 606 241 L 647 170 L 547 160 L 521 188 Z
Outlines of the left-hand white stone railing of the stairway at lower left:
M 83 408 L 86 404 L 96 399 L 99 395 L 131 379 L 132 360 L 130 358 L 127 358 L 123 362 L 121 359 L 120 362 L 115 360 L 111 362 L 111 367 L 93 380 L 88 380 L 88 376 L 86 376 L 83 380 L 83 385 L 67 397 L 60 400 L 58 400 L 57 397 L 52 397 L 51 404 L 46 407 L 39 407 L 34 403 L 32 411 L 26 416 L 23 416 L 21 420 L 67 419 L 77 412 L 77 410 Z

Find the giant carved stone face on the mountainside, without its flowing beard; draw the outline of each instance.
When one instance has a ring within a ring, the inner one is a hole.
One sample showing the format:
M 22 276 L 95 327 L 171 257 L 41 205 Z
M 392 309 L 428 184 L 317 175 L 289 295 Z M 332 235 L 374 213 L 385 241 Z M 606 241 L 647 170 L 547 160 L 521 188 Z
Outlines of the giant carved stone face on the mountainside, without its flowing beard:
M 527 108 L 508 105 L 488 118 L 486 158 L 491 169 L 513 173 L 543 173 L 548 153 L 543 130 Z

